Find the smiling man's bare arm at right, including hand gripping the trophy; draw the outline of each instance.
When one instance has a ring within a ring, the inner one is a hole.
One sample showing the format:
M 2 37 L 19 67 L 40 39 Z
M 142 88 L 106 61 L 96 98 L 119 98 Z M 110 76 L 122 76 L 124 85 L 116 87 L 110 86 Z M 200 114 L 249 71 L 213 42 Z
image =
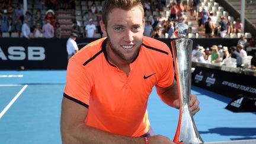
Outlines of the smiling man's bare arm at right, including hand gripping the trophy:
M 165 104 L 170 105 L 174 108 L 180 108 L 180 100 L 178 96 L 178 86 L 177 82 L 174 79 L 173 84 L 167 88 L 160 88 L 156 86 L 156 91 L 158 92 L 159 97 Z M 190 111 L 192 114 L 196 114 L 199 110 L 199 100 L 197 100 L 196 95 L 190 95 Z

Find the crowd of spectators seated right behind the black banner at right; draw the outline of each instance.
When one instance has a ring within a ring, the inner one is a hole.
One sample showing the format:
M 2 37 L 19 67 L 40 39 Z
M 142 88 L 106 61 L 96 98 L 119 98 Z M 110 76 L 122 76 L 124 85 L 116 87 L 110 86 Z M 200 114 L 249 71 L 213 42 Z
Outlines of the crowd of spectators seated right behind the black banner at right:
M 239 39 L 236 46 L 226 47 L 222 44 L 212 45 L 204 49 L 203 46 L 197 45 L 192 51 L 192 61 L 201 63 L 212 63 L 216 65 L 226 65 L 236 68 L 256 69 L 255 54 L 256 50 L 252 50 L 252 56 L 247 54 L 247 47 L 256 47 L 254 39 L 247 42 L 244 36 Z

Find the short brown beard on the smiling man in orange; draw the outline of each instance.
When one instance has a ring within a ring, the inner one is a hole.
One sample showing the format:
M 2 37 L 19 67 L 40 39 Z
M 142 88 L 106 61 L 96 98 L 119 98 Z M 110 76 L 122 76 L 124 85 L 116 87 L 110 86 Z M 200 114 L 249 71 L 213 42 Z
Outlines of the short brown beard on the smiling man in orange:
M 124 53 L 121 52 L 121 50 L 118 48 L 118 47 L 115 47 L 114 44 L 111 42 L 111 39 L 110 37 L 108 36 L 108 33 L 107 33 L 107 37 L 108 37 L 108 44 L 110 45 L 110 49 L 112 50 L 112 52 L 116 55 L 116 56 L 119 56 L 121 59 L 123 60 L 134 60 L 135 57 L 137 56 L 137 54 L 139 53 L 139 49 L 140 49 L 140 46 L 142 45 L 142 41 L 141 43 L 139 44 L 139 46 L 137 47 L 133 47 L 133 49 L 135 49 L 135 53 L 133 53 L 133 55 L 131 57 L 127 57 L 124 55 Z

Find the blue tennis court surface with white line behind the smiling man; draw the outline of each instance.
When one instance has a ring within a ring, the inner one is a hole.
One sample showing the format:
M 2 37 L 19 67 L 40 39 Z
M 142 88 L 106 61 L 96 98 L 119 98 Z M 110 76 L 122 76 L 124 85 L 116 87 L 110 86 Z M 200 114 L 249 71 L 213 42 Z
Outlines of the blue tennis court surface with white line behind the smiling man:
M 0 143 L 61 143 L 60 106 L 66 71 L 0 71 Z M 200 101 L 194 116 L 204 142 L 256 139 L 256 113 L 233 113 L 230 98 L 192 87 Z M 149 119 L 156 134 L 173 139 L 178 110 L 165 105 L 155 89 Z

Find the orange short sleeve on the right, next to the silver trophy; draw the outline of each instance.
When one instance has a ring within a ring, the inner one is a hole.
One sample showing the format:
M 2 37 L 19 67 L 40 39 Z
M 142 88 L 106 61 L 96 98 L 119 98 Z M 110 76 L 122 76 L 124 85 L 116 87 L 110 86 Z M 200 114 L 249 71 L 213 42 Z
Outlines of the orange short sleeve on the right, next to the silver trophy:
M 172 82 L 174 80 L 174 68 L 171 51 L 169 51 L 165 62 L 161 63 L 161 68 L 163 69 L 163 71 L 156 85 L 161 88 L 167 88 L 172 85 Z

